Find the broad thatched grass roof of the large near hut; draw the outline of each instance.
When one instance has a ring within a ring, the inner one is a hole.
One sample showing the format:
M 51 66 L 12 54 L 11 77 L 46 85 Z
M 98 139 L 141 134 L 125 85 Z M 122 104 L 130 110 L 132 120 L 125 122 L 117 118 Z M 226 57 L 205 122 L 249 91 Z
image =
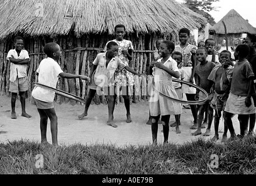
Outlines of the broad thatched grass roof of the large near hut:
M 0 40 L 16 33 L 66 35 L 71 30 L 78 37 L 113 34 L 116 24 L 124 24 L 128 33 L 177 34 L 182 27 L 206 24 L 204 17 L 174 0 L 1 0 L 0 5 Z

